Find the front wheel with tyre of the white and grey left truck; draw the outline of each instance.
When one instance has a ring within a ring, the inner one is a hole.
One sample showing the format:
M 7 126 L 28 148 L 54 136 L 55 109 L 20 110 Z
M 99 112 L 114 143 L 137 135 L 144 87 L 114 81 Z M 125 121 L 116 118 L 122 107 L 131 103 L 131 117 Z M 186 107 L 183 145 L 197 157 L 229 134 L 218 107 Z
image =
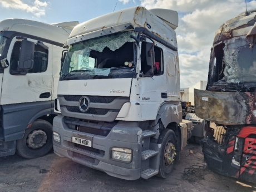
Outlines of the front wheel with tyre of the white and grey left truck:
M 17 154 L 27 159 L 46 155 L 52 149 L 52 125 L 45 120 L 36 120 L 16 142 Z

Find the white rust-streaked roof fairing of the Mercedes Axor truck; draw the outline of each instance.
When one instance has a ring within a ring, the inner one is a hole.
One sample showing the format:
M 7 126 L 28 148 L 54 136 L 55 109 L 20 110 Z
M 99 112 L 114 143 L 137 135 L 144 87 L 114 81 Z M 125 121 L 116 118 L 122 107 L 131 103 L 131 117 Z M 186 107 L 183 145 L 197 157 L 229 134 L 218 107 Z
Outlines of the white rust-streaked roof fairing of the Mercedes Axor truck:
M 154 12 L 154 11 L 153 11 Z M 156 10 L 159 12 L 159 10 Z M 173 23 L 173 26 L 178 26 L 178 13 L 172 10 L 168 10 L 171 14 L 177 15 L 176 17 L 171 17 L 169 14 L 169 19 L 166 19 L 165 16 L 160 16 L 165 18 L 165 21 Z M 120 11 L 115 11 L 104 16 L 90 19 L 89 21 L 78 24 L 70 34 L 68 38 L 68 43 L 77 42 L 76 36 L 79 35 L 90 35 L 90 32 L 103 31 L 102 35 L 110 34 L 109 30 L 104 31 L 105 28 L 114 27 L 117 25 L 126 24 L 126 26 L 132 25 L 132 27 L 146 27 L 150 32 L 154 32 L 157 36 L 160 35 L 160 38 L 163 38 L 165 41 L 171 43 L 174 47 L 177 47 L 176 35 L 174 29 L 170 27 L 169 24 L 163 21 L 163 19 L 157 17 L 155 14 L 152 14 L 150 11 L 144 7 L 131 7 L 127 9 L 122 9 Z M 150 27 L 147 27 L 147 24 Z M 111 31 L 112 30 L 112 31 Z M 113 29 L 110 29 L 111 33 L 117 32 Z

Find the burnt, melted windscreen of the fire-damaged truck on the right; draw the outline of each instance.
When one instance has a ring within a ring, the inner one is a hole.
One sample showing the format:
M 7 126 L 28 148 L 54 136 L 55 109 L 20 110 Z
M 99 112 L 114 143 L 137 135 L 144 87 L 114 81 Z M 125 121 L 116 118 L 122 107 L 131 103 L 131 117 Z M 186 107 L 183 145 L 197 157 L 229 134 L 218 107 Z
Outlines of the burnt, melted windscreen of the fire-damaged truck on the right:
M 246 36 L 228 38 L 215 45 L 213 55 L 210 61 L 213 82 L 255 82 L 256 48 L 250 46 Z

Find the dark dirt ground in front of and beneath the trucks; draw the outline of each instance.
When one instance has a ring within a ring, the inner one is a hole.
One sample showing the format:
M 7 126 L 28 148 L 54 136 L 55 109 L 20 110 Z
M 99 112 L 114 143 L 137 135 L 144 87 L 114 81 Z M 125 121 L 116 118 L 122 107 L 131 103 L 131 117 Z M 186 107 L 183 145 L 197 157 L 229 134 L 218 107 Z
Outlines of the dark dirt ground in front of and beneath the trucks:
M 17 155 L 0 157 L 0 191 L 256 191 L 245 183 L 208 170 L 200 145 L 189 144 L 181 152 L 168 179 L 156 176 L 127 181 L 87 168 L 53 152 L 37 159 Z

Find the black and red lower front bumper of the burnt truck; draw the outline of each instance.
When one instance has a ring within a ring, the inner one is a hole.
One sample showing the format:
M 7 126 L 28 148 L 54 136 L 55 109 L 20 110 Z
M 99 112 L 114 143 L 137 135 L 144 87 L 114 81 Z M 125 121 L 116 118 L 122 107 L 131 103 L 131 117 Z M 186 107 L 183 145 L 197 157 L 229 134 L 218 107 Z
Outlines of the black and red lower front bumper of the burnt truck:
M 228 127 L 223 144 L 204 139 L 203 153 L 208 168 L 217 173 L 256 182 L 256 127 Z

